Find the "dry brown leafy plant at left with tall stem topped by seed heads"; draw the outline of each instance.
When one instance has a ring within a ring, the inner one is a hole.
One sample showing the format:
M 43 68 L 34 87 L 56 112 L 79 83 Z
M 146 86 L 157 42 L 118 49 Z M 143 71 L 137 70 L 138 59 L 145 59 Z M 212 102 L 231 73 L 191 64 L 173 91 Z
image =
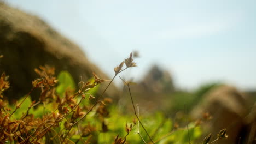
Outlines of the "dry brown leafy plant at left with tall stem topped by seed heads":
M 83 82 L 78 83 L 79 89 L 77 92 L 67 90 L 64 97 L 56 94 L 56 79 L 55 69 L 46 65 L 45 67 L 40 66 L 34 71 L 38 74 L 39 78 L 32 82 L 33 88 L 25 96 L 25 98 L 18 104 L 14 110 L 8 108 L 8 102 L 3 97 L 3 92 L 8 89 L 9 82 L 8 76 L 4 73 L 0 78 L 0 143 L 70 143 L 70 137 L 74 133 L 79 133 L 80 140 L 83 143 L 90 143 L 93 141 L 94 131 L 102 131 L 103 133 L 108 131 L 108 125 L 104 118 L 109 116 L 107 110 L 107 105 L 111 103 L 111 99 L 104 98 L 103 94 L 106 92 L 107 88 L 113 82 L 114 78 L 121 73 L 124 63 L 126 68 L 135 67 L 136 63 L 133 62 L 132 53 L 130 57 L 121 62 L 118 67 L 114 68 L 115 76 L 109 82 L 107 87 L 104 89 L 102 94 L 96 98 L 94 104 L 82 105 L 83 100 L 95 99 L 94 95 L 87 93 L 90 89 L 96 87 L 105 80 L 100 79 L 95 73 L 94 82 Z M 39 101 L 33 101 L 30 106 L 27 107 L 27 111 L 22 114 L 20 118 L 15 118 L 14 113 L 22 106 L 24 101 L 29 97 L 31 92 L 35 88 L 40 88 L 40 98 Z M 80 98 L 80 100 L 78 100 Z M 50 105 L 53 104 L 55 109 L 50 113 L 44 113 L 41 118 L 35 118 L 30 110 L 36 105 Z M 97 127 L 88 124 L 79 124 L 79 122 L 84 121 L 85 117 L 96 108 L 96 115 L 102 123 L 101 130 Z M 57 130 L 63 123 L 64 128 Z M 131 131 L 132 127 L 126 125 L 127 135 Z M 75 126 L 78 130 L 75 129 Z M 127 136 L 126 135 L 126 136 Z M 114 140 L 115 143 L 125 143 L 126 136 L 124 139 L 120 139 L 118 136 Z M 86 141 L 81 139 L 81 137 L 88 137 Z M 93 143 L 93 142 L 92 142 Z

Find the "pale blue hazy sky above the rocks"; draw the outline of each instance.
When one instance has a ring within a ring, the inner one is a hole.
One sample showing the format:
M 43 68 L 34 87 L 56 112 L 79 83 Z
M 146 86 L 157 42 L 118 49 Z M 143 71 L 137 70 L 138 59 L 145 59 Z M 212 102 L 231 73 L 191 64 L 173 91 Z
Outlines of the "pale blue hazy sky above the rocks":
M 224 82 L 256 89 L 254 0 L 5 2 L 48 22 L 110 77 L 130 52 L 138 51 L 138 67 L 121 76 L 139 81 L 158 64 L 170 71 L 178 88 Z

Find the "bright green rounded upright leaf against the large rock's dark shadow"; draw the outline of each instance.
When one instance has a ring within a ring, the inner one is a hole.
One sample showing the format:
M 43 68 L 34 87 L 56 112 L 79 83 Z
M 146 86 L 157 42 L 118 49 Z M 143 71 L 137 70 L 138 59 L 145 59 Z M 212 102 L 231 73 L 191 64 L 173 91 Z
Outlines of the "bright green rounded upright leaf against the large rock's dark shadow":
M 59 85 L 56 88 L 56 92 L 60 95 L 65 93 L 67 88 L 75 89 L 75 83 L 72 76 L 68 71 L 61 71 L 58 75 Z

